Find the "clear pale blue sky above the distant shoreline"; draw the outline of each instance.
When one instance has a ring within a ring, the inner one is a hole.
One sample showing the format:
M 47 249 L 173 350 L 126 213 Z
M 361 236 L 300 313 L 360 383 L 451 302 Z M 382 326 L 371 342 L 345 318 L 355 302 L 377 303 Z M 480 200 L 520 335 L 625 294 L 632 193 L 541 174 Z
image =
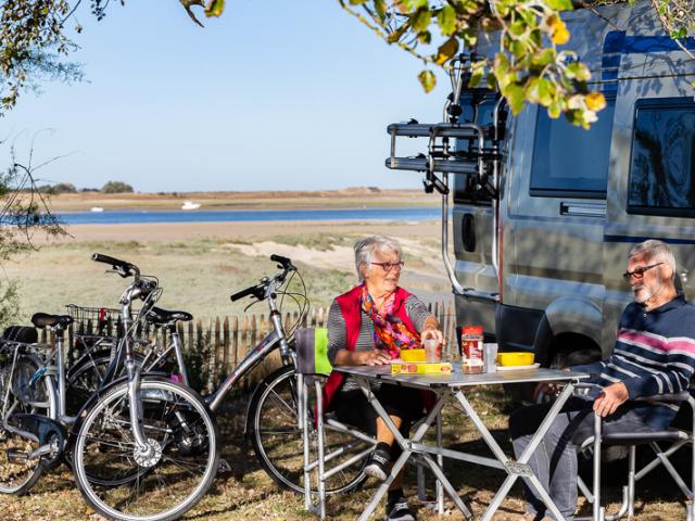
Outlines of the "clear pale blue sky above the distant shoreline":
M 440 120 L 448 80 L 426 94 L 421 62 L 338 2 L 228 0 L 220 18 L 201 13 L 204 29 L 176 0 L 112 2 L 101 22 L 83 8 L 86 80 L 46 84 L 0 119 L 20 162 L 53 129 L 35 163 L 68 155 L 40 178 L 143 192 L 420 186 L 383 166 L 386 127 Z

